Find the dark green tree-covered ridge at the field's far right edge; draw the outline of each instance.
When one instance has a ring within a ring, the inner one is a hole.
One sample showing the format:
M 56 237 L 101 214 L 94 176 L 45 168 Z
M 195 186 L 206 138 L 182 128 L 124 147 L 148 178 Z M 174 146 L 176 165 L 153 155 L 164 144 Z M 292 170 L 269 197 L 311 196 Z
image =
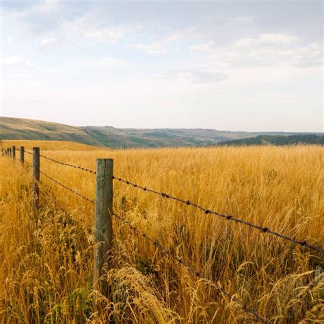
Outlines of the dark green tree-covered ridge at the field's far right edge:
M 299 134 L 289 136 L 260 135 L 252 138 L 233 139 L 221 141 L 218 146 L 242 146 L 242 145 L 294 145 L 294 144 L 319 144 L 324 145 L 324 135 Z

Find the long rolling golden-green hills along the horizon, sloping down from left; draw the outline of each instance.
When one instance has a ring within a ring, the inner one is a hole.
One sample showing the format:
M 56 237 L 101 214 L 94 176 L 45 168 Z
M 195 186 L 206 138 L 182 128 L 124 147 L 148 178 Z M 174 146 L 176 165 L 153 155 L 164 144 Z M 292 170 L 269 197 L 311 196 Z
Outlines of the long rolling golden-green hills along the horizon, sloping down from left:
M 76 141 L 109 148 L 209 146 L 220 141 L 257 135 L 295 133 L 247 133 L 215 129 L 116 129 L 111 126 L 68 126 L 54 122 L 0 117 L 0 139 Z

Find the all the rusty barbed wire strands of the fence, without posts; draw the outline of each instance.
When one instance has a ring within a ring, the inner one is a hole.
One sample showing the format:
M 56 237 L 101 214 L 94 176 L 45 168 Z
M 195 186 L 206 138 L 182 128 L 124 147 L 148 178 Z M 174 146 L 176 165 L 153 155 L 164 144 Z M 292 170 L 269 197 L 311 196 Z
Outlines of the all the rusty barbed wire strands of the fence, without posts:
M 16 150 L 20 151 L 18 148 L 16 148 Z M 37 150 L 36 151 L 33 150 L 33 152 L 29 152 L 29 151 L 25 150 L 25 148 L 23 148 L 23 147 L 21 147 L 21 150 L 23 150 L 23 152 L 25 152 L 25 153 L 30 154 L 31 156 L 33 156 L 33 161 L 34 161 L 35 154 L 37 154 Z M 11 157 L 12 156 L 11 155 L 11 152 L 12 152 L 12 150 L 10 150 L 10 148 L 8 148 L 8 149 L 6 149 L 4 151 L 4 155 Z M 72 168 L 81 170 L 83 172 L 88 172 L 88 173 L 94 174 L 94 175 L 97 176 L 96 181 L 98 181 L 98 161 L 100 161 L 100 160 L 101 161 L 107 160 L 107 159 L 98 159 L 97 160 L 97 171 L 93 171 L 93 170 L 87 169 L 85 167 L 81 167 L 79 165 L 72 165 L 70 163 L 65 163 L 65 162 L 62 162 L 62 161 L 58 161 L 58 160 L 52 159 L 50 157 L 46 157 L 46 156 L 40 154 L 39 153 L 39 150 L 38 150 L 38 155 L 39 155 L 39 157 L 42 157 L 43 159 L 46 159 L 46 160 L 51 161 L 53 163 L 57 163 L 59 165 L 65 165 L 65 166 L 68 166 L 68 167 L 72 167 Z M 38 157 L 38 159 L 39 159 L 39 157 Z M 23 159 L 23 161 L 21 161 L 22 163 L 27 163 L 27 161 L 25 161 L 24 156 L 22 154 L 21 154 L 21 159 Z M 37 157 L 36 157 L 36 161 L 37 161 Z M 33 165 L 31 165 L 30 163 L 27 163 L 27 165 L 29 165 L 29 167 L 32 167 L 33 168 L 33 173 L 34 173 L 35 172 L 35 170 L 34 170 L 34 168 L 35 168 L 34 163 L 33 163 Z M 87 202 L 89 202 L 91 204 L 94 204 L 96 206 L 96 208 L 100 208 L 99 205 L 102 204 L 102 202 L 99 202 L 99 203 L 97 202 L 97 200 L 98 200 L 98 193 L 96 193 L 96 200 L 92 200 L 90 198 L 85 197 L 84 195 L 82 195 L 81 193 L 79 193 L 78 191 L 76 191 L 75 189 L 72 189 L 72 188 L 68 187 L 67 185 L 64 185 L 63 183 L 59 182 L 55 178 L 52 178 L 48 174 L 45 174 L 41 170 L 38 170 L 38 173 L 39 174 L 42 174 L 43 176 L 45 176 L 46 178 L 48 178 L 49 180 L 51 180 L 56 185 L 59 185 L 60 187 L 63 187 L 64 189 L 70 191 L 70 193 L 73 193 L 73 194 L 79 196 L 80 198 L 83 198 L 83 200 L 85 200 L 85 201 L 87 201 Z M 293 243 L 295 245 L 299 245 L 301 247 L 305 247 L 305 248 L 308 248 L 308 249 L 312 249 L 313 251 L 319 252 L 320 254 L 324 254 L 324 249 L 322 247 L 316 247 L 314 245 L 310 245 L 308 242 L 306 242 L 306 240 L 299 241 L 299 240 L 297 240 L 295 238 L 287 237 L 286 235 L 283 235 L 283 234 L 280 234 L 280 233 L 275 232 L 273 230 L 270 230 L 267 227 L 258 226 L 256 224 L 252 224 L 252 223 L 250 223 L 248 221 L 245 221 L 243 219 L 239 219 L 239 218 L 234 217 L 232 215 L 226 215 L 226 214 L 218 213 L 216 211 L 212 211 L 211 209 L 208 209 L 208 208 L 204 208 L 203 206 L 200 206 L 198 204 L 195 204 L 195 203 L 191 202 L 190 200 L 184 200 L 184 199 L 181 199 L 181 198 L 176 198 L 176 197 L 174 197 L 174 196 L 172 196 L 172 195 L 170 195 L 168 193 L 156 191 L 156 190 L 150 189 L 148 187 L 143 187 L 141 185 L 137 185 L 136 183 L 132 183 L 129 180 L 125 180 L 123 178 L 118 178 L 116 176 L 113 176 L 113 172 L 112 172 L 112 169 L 111 169 L 111 179 L 110 179 L 110 181 L 111 181 L 111 189 L 112 189 L 112 182 L 113 182 L 113 180 L 116 180 L 116 181 L 118 181 L 120 183 L 124 183 L 126 185 L 130 185 L 130 186 L 132 186 L 134 188 L 137 188 L 137 189 L 140 189 L 142 191 L 147 191 L 149 193 L 154 193 L 156 195 L 160 195 L 162 198 L 165 198 L 165 199 L 175 200 L 175 201 L 180 202 L 180 203 L 183 203 L 183 204 L 185 204 L 187 206 L 192 206 L 192 207 L 198 208 L 198 210 L 202 211 L 206 215 L 211 214 L 211 215 L 215 215 L 217 217 L 224 218 L 224 219 L 226 219 L 228 221 L 234 221 L 234 222 L 239 223 L 239 224 L 242 224 L 244 226 L 248 226 L 249 228 L 253 228 L 253 229 L 259 230 L 261 233 L 272 234 L 275 237 L 279 237 L 280 239 L 289 241 L 289 242 L 291 242 L 291 243 Z M 100 193 L 99 193 L 99 196 L 100 196 Z M 111 199 L 112 199 L 112 197 L 111 197 Z M 54 202 L 54 203 L 59 208 L 61 208 L 62 211 L 64 211 L 64 213 L 67 213 L 68 214 L 68 212 L 66 211 L 65 208 L 63 208 L 57 202 Z M 109 213 L 109 215 L 107 215 L 107 212 Z M 159 243 L 159 241 L 155 241 L 155 240 L 151 239 L 146 233 L 141 232 L 134 224 L 132 224 L 130 221 L 128 221 L 127 219 L 125 219 L 121 215 L 117 215 L 116 213 L 113 213 L 112 207 L 111 207 L 111 210 L 110 211 L 105 211 L 105 217 L 107 217 L 107 216 L 108 217 L 113 216 L 113 217 L 116 217 L 117 219 L 119 219 L 120 221 L 122 221 L 122 223 L 126 224 L 126 226 L 128 226 L 131 230 L 133 230 L 134 232 L 137 232 L 137 234 L 139 234 L 141 237 L 144 237 L 144 239 L 146 239 L 147 241 L 149 241 L 150 243 L 152 243 L 152 245 L 154 245 L 155 247 L 157 247 L 157 249 L 159 249 L 160 252 L 162 252 L 166 256 L 169 256 L 174 261 L 178 262 L 178 264 L 180 264 L 183 267 L 185 267 L 189 272 L 193 273 L 196 277 L 200 278 L 200 280 L 203 280 L 204 282 L 206 282 L 206 284 L 210 284 L 210 285 L 214 286 L 215 288 L 217 288 L 223 295 L 225 295 L 231 301 L 234 301 L 239 306 L 241 306 L 241 308 L 245 312 L 247 312 L 249 314 L 252 314 L 256 320 L 261 321 L 262 323 L 269 323 L 269 321 L 267 321 L 267 319 L 264 319 L 257 312 L 255 312 L 251 308 L 248 308 L 247 305 L 245 305 L 245 303 L 242 303 L 241 301 L 239 301 L 237 299 L 237 297 L 235 297 L 234 295 L 231 295 L 230 293 L 228 293 L 219 283 L 215 283 L 215 282 L 213 282 L 211 280 L 208 280 L 208 278 L 206 278 L 206 276 L 204 276 L 202 273 L 196 271 L 193 267 L 191 267 L 191 265 L 189 265 L 189 263 L 183 261 L 181 258 L 179 258 L 178 256 L 176 256 L 176 254 L 173 254 L 170 250 L 168 250 L 165 247 L 163 247 L 163 245 L 161 245 L 161 243 Z M 95 222 L 96 222 L 96 220 L 95 220 Z M 95 231 L 96 231 L 96 228 L 95 228 Z M 111 231 L 112 231 L 112 228 L 111 228 Z

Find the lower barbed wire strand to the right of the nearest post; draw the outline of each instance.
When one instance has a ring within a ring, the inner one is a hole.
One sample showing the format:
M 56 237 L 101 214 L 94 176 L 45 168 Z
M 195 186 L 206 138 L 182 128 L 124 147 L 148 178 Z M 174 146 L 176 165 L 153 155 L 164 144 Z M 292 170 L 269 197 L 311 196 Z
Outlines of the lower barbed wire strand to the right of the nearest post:
M 184 262 L 181 258 L 179 258 L 175 254 L 173 254 L 172 252 L 170 252 L 170 250 L 165 249 L 165 247 L 163 247 L 163 245 L 161 245 L 158 241 L 154 241 L 153 239 L 151 239 L 150 237 L 148 237 L 145 233 L 142 233 L 137 227 L 133 226 L 129 221 L 127 221 L 126 219 L 124 219 L 124 217 L 121 217 L 120 215 L 116 215 L 115 213 L 113 213 L 113 216 L 115 216 L 118 219 L 120 219 L 122 222 L 124 222 L 124 224 L 126 224 L 127 226 L 129 226 L 129 228 L 131 228 L 131 230 L 134 230 L 135 232 L 137 232 L 141 237 L 144 237 L 146 240 L 150 241 L 150 243 L 152 243 L 155 247 L 157 247 L 161 252 L 163 252 L 164 254 L 167 254 L 172 259 L 176 260 L 176 262 L 178 262 L 181 265 L 183 265 L 191 273 L 193 273 L 196 277 L 204 280 L 205 282 L 207 282 L 209 284 L 212 284 L 213 286 L 216 286 L 219 289 L 219 291 L 221 291 L 221 293 L 223 293 L 224 295 L 226 295 L 226 297 L 228 297 L 230 300 L 235 301 L 236 303 L 238 303 L 243 308 L 243 310 L 245 312 L 249 312 L 250 314 L 253 314 L 256 317 L 256 319 L 262 321 L 262 323 L 269 324 L 269 322 L 266 319 L 263 319 L 260 315 L 258 315 L 258 313 L 254 312 L 254 310 L 252 310 L 250 308 L 247 308 L 247 306 L 244 305 L 243 303 L 241 303 L 236 297 L 234 297 L 233 295 L 230 295 L 230 293 L 228 293 L 224 288 L 222 288 L 220 284 L 218 284 L 218 283 L 216 284 L 215 282 L 212 282 L 211 280 L 208 280 L 207 278 L 205 278 L 204 275 L 202 275 L 200 272 L 198 272 L 195 269 L 193 269 L 193 267 L 191 267 L 190 265 L 188 265 L 187 262 Z

